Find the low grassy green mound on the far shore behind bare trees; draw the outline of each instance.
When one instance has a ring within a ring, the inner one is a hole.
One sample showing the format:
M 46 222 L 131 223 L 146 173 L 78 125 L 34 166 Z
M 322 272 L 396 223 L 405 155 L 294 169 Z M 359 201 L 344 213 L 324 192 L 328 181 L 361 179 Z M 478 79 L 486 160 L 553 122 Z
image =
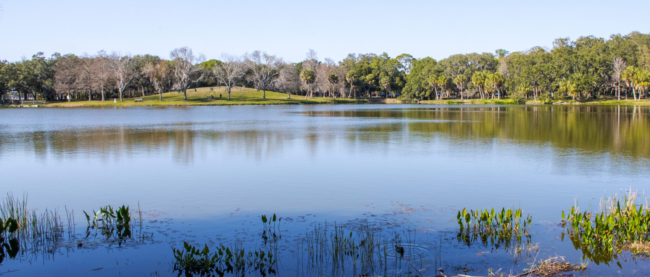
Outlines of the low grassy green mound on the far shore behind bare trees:
M 209 91 L 209 87 L 194 88 L 187 90 L 187 100 L 183 100 L 183 92 L 166 92 L 162 94 L 162 101 L 159 101 L 158 94 L 136 97 L 142 98 L 143 101 L 135 101 L 135 98 L 125 98 L 124 101 L 118 99 L 113 103 L 112 99 L 107 101 L 72 101 L 72 102 L 54 102 L 47 103 L 45 107 L 132 107 L 132 106 L 209 106 L 209 105 L 289 105 L 289 104 L 356 104 L 366 103 L 364 99 L 348 98 L 307 98 L 305 96 L 291 95 L 287 99 L 287 94 L 279 92 L 266 92 L 266 99 L 262 99 L 262 91 L 257 92 L 255 88 L 236 87 L 231 90 L 231 99 L 227 100 L 228 95 L 224 87 L 215 86 L 214 91 Z M 219 98 L 219 94 L 222 98 Z M 215 98 L 207 98 L 207 96 Z

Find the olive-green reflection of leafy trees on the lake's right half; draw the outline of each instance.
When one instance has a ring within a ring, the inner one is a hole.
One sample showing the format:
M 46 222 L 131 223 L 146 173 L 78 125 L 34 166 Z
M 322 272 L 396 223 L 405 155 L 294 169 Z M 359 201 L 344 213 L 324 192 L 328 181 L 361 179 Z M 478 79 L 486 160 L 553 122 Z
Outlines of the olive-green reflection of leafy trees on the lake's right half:
M 373 122 L 351 131 L 360 137 L 386 141 L 387 133 L 411 131 L 419 136 L 434 133 L 463 139 L 512 139 L 551 143 L 558 148 L 595 152 L 623 152 L 650 156 L 648 107 L 530 106 L 530 107 L 428 107 L 356 111 L 310 111 L 309 116 L 393 118 L 407 122 Z M 374 124 L 376 123 L 376 124 Z M 406 129 L 404 129 L 406 125 Z

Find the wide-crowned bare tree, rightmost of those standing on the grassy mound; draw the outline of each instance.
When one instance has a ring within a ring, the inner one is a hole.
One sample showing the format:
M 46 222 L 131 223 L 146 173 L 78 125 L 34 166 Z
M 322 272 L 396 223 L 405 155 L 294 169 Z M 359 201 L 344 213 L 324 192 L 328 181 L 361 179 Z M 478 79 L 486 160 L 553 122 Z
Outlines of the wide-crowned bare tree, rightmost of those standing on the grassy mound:
M 262 99 L 266 99 L 266 90 L 278 81 L 279 69 L 283 66 L 282 58 L 268 55 L 259 50 L 244 54 L 246 67 L 252 73 L 252 81 L 257 89 L 263 90 Z

